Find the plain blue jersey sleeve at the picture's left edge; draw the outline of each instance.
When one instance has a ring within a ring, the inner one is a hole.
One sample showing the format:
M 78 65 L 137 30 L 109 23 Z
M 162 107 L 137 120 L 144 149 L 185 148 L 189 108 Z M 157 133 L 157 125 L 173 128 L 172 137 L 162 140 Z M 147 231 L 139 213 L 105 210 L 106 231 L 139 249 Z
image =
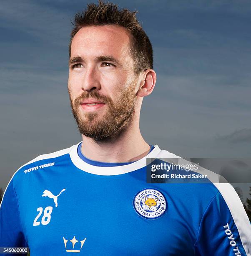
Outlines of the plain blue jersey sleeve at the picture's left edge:
M 28 247 L 23 234 L 13 178 L 5 189 L 0 205 L 0 247 Z

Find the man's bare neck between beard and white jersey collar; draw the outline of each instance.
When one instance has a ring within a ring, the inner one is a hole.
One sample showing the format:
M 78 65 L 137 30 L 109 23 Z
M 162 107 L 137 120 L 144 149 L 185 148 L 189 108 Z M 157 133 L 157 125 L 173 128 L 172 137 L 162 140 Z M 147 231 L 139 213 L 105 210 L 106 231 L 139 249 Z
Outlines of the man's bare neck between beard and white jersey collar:
M 132 121 L 123 133 L 106 141 L 94 141 L 84 135 L 82 154 L 94 161 L 116 163 L 137 161 L 149 153 L 150 146 L 143 139 L 139 120 Z

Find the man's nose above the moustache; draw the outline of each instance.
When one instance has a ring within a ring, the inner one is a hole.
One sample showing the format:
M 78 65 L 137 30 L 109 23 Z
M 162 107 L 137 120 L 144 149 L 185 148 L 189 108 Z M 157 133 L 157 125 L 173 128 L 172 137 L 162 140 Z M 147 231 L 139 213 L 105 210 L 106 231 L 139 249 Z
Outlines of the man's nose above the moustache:
M 85 69 L 81 89 L 87 92 L 100 90 L 99 74 L 98 71 L 95 70 L 95 67 L 87 67 Z

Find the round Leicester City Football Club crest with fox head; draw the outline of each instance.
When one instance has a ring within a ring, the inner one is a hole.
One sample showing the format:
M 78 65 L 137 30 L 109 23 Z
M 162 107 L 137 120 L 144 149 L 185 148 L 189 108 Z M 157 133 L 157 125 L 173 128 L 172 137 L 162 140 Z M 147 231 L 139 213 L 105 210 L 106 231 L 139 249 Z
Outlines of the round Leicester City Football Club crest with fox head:
M 166 211 L 166 198 L 157 189 L 143 189 L 133 199 L 136 212 L 144 218 L 156 219 Z

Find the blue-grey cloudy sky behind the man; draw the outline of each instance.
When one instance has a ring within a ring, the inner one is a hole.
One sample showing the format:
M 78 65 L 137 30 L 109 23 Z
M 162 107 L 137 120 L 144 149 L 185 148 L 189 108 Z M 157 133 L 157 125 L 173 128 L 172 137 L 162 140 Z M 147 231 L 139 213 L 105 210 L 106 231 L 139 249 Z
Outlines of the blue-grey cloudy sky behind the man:
M 1 1 L 0 187 L 36 156 L 81 141 L 67 92 L 68 43 L 71 20 L 87 3 Z M 251 2 L 113 3 L 138 10 L 153 45 L 157 82 L 141 108 L 145 140 L 182 157 L 250 158 Z M 249 185 L 241 185 L 245 195 Z

